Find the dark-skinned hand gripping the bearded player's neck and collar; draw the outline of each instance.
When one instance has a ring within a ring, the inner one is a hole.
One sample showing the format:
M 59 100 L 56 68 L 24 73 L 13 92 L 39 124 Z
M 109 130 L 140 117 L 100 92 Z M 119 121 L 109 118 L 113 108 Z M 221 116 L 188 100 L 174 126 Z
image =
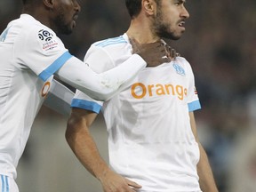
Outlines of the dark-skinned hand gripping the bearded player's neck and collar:
M 139 44 L 134 38 L 130 38 L 132 53 L 137 53 L 147 62 L 147 67 L 156 67 L 164 62 L 171 62 L 176 58 L 176 51 L 164 40 L 155 43 Z

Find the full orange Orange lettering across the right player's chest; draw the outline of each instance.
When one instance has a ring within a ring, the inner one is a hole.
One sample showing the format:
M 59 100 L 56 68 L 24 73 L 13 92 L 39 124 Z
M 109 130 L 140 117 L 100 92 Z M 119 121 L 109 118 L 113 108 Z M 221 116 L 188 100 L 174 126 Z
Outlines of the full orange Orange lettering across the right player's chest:
M 142 99 L 145 96 L 162 96 L 162 95 L 173 95 L 177 96 L 179 100 L 184 100 L 187 96 L 188 90 L 181 85 L 173 84 L 132 84 L 131 88 L 132 97 L 135 99 Z

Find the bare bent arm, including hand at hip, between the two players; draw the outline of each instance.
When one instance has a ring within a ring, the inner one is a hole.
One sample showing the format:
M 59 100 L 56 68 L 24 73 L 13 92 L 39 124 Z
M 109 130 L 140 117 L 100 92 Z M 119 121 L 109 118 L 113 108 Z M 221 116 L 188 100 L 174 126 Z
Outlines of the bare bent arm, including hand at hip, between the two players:
M 66 131 L 68 145 L 84 167 L 100 180 L 104 192 L 132 192 L 134 191 L 132 188 L 140 188 L 140 185 L 111 171 L 100 156 L 89 131 L 96 116 L 97 114 L 94 112 L 82 108 L 72 108 Z

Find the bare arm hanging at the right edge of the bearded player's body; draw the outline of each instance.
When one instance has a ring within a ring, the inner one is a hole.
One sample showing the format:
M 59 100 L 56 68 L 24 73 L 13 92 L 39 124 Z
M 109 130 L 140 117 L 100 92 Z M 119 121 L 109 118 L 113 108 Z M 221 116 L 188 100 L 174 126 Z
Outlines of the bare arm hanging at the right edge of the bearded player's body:
M 190 117 L 190 124 L 192 128 L 192 132 L 196 138 L 196 142 L 198 143 L 199 150 L 200 150 L 200 159 L 197 164 L 197 172 L 199 176 L 199 184 L 202 191 L 207 192 L 218 192 L 218 189 L 216 187 L 212 169 L 208 161 L 208 157 L 205 153 L 205 150 L 203 146 L 201 145 L 200 141 L 197 138 L 197 132 L 196 132 L 196 121 L 195 116 L 193 112 L 189 112 Z

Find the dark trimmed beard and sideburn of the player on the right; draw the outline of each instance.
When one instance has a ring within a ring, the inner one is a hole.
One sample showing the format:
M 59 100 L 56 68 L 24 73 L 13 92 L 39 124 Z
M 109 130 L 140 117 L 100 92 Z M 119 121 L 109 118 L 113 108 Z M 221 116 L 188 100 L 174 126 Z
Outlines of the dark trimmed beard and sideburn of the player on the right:
M 153 33 L 160 38 L 167 38 L 171 40 L 178 40 L 180 36 L 175 35 L 175 32 L 170 28 L 170 24 L 164 22 L 163 13 L 160 8 L 157 7 L 156 17 L 152 23 Z

